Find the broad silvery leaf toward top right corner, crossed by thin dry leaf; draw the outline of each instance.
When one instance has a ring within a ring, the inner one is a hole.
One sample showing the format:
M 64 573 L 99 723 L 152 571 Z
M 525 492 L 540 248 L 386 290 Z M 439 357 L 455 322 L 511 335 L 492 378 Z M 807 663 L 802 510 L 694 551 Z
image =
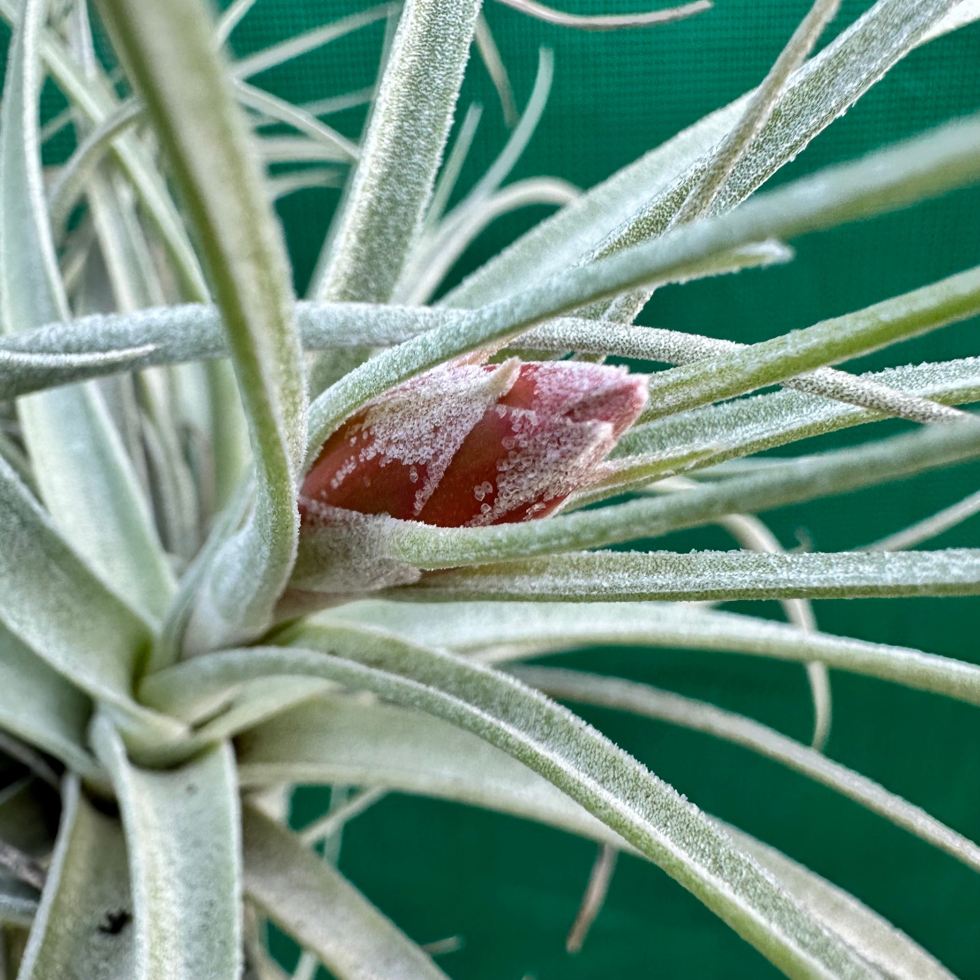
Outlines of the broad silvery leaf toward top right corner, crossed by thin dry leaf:
M 795 159 L 909 50 L 929 39 L 928 31 L 943 23 L 951 7 L 950 0 L 879 0 L 794 73 L 752 152 L 728 180 L 716 210 L 744 200 Z M 682 130 L 537 224 L 441 302 L 475 308 L 527 288 L 586 260 L 605 239 L 621 241 L 622 231 L 649 234 L 653 229 L 644 226 L 642 219 L 651 212 L 662 230 L 701 178 L 712 149 L 742 118 L 752 95 L 749 92 Z

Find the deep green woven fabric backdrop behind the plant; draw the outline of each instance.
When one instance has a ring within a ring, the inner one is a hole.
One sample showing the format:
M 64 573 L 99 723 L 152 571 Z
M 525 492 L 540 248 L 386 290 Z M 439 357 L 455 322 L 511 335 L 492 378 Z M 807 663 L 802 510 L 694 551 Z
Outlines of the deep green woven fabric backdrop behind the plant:
M 258 0 L 235 31 L 233 47 L 246 54 L 366 5 Z M 714 10 L 686 23 L 596 34 L 540 24 L 490 3 L 487 18 L 518 106 L 530 91 L 538 47 L 551 47 L 556 58 L 548 109 L 515 177 L 550 173 L 585 187 L 608 176 L 758 83 L 808 6 L 807 0 L 716 0 Z M 868 6 L 870 0 L 845 0 L 828 37 Z M 636 0 L 565 0 L 564 9 L 638 7 Z M 373 25 L 256 80 L 300 102 L 367 85 L 383 32 L 383 24 Z M 463 188 L 507 134 L 476 59 L 461 109 L 471 100 L 485 111 Z M 773 183 L 977 109 L 975 25 L 911 55 Z M 363 119 L 363 110 L 352 110 L 331 123 L 356 135 Z M 280 206 L 300 290 L 337 198 L 336 191 L 307 191 Z M 455 278 L 545 214 L 535 209 L 498 221 L 470 249 Z M 663 289 L 640 321 L 758 340 L 966 268 L 980 259 L 978 238 L 980 192 L 960 192 L 895 217 L 809 237 L 797 243 L 796 262 L 782 269 Z M 974 320 L 940 331 L 866 359 L 867 367 L 980 353 L 977 328 Z M 852 430 L 835 438 L 863 437 Z M 980 466 L 964 466 L 874 494 L 788 509 L 770 515 L 770 523 L 786 546 L 796 543 L 799 532 L 818 549 L 844 549 L 952 503 L 978 482 Z M 980 545 L 980 518 L 929 547 L 954 543 Z M 709 532 L 676 535 L 665 544 L 731 547 L 720 533 Z M 816 612 L 831 632 L 980 661 L 975 600 L 824 602 Z M 771 614 L 779 614 L 774 604 Z M 803 671 L 793 665 L 644 650 L 593 650 L 564 661 L 710 698 L 808 737 L 808 693 Z M 840 673 L 833 684 L 829 754 L 980 838 L 980 711 Z M 955 860 L 742 750 L 610 711 L 585 714 L 699 806 L 850 889 L 962 980 L 980 978 L 980 878 Z M 322 793 L 310 791 L 300 796 L 296 816 L 321 806 Z M 418 941 L 464 937 L 460 952 L 439 960 L 459 980 L 777 975 L 665 875 L 632 858 L 620 860 L 583 952 L 567 956 L 564 934 L 593 855 L 587 843 L 515 819 L 392 797 L 348 828 L 341 867 Z

